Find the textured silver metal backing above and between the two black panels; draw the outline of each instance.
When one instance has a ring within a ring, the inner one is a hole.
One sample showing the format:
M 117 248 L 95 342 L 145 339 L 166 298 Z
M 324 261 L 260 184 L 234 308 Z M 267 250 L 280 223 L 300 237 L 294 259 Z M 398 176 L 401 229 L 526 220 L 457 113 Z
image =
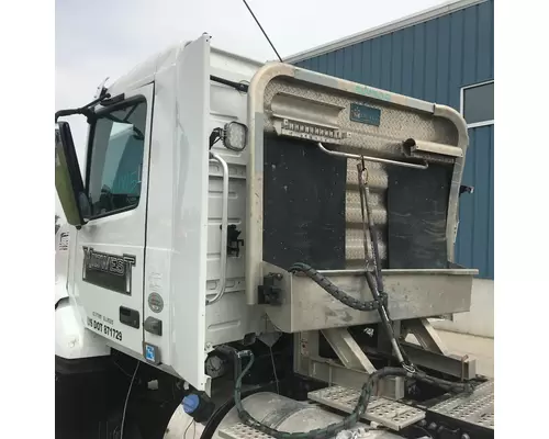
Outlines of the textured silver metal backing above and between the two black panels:
M 300 85 L 289 83 L 277 79 L 267 86 L 265 92 L 266 114 L 269 114 L 270 103 L 277 93 L 291 93 L 316 102 L 323 102 L 329 105 L 337 105 L 344 110 L 337 116 L 337 125 L 350 137 L 345 139 L 345 145 L 338 146 L 339 150 L 351 154 L 366 154 L 403 159 L 402 142 L 414 137 L 422 140 L 437 142 L 448 145 L 457 145 L 458 134 L 455 126 L 447 120 L 433 117 L 413 110 L 395 108 L 391 104 L 384 104 L 369 100 L 368 98 L 352 97 L 349 99 L 345 94 L 325 95 L 317 94 L 310 88 Z M 369 106 L 382 110 L 380 126 L 372 126 L 357 123 L 350 120 L 350 103 L 366 103 Z M 272 120 L 267 117 L 266 130 L 271 131 Z M 314 147 L 314 146 L 312 146 Z M 430 157 L 430 156 L 429 156 Z M 435 157 L 435 159 L 437 159 Z M 448 161 L 448 160 L 444 160 Z M 450 160 L 451 161 L 451 160 Z M 361 227 L 360 199 L 358 194 L 357 179 L 358 160 L 348 160 L 347 162 L 347 203 L 346 203 L 346 260 L 347 268 L 363 266 L 365 250 L 362 245 L 362 234 L 356 234 L 355 228 Z M 386 187 L 388 176 L 386 166 L 382 164 L 367 161 L 368 184 L 370 187 L 370 205 L 373 210 L 373 221 L 379 227 L 380 234 L 378 243 L 382 266 L 386 267 Z M 358 240 L 357 240 L 358 238 Z M 370 247 L 370 244 L 368 245 Z

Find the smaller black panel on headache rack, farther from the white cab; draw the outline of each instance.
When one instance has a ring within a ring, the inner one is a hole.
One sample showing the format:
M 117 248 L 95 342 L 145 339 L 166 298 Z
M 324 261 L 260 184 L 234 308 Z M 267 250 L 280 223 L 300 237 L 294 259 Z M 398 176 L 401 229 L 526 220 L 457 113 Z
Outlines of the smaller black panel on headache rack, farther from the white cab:
M 389 268 L 445 269 L 451 168 L 391 167 L 388 187 Z

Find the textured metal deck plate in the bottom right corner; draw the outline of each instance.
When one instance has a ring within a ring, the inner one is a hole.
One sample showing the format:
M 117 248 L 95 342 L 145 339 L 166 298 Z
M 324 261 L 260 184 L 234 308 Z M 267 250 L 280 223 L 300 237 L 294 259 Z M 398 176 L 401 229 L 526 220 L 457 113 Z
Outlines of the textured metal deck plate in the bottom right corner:
M 468 396 L 457 395 L 446 399 L 430 407 L 429 412 L 493 430 L 494 382 L 479 385 Z

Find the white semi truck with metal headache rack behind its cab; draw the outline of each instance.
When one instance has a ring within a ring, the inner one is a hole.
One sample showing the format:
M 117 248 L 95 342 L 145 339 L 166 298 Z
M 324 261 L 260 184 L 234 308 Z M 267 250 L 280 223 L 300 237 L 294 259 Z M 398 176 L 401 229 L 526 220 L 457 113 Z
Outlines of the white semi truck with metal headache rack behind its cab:
M 89 124 L 83 173 L 69 114 Z M 179 407 L 204 438 L 238 439 L 238 423 L 285 438 L 273 430 L 283 407 L 327 404 L 307 394 L 318 383 L 357 392 L 383 376 L 377 389 L 401 404 L 407 379 L 426 380 L 416 365 L 446 390 L 477 380 L 474 359 L 451 357 L 427 320 L 470 307 L 477 271 L 453 261 L 467 146 L 452 109 L 261 65 L 206 34 L 57 112 L 59 381 L 93 371 L 107 383 L 93 423 L 121 438 L 125 423 L 163 437 Z M 293 399 L 258 393 L 283 382 Z M 426 416 L 383 418 L 383 437 Z M 309 428 L 330 419 L 322 408 Z

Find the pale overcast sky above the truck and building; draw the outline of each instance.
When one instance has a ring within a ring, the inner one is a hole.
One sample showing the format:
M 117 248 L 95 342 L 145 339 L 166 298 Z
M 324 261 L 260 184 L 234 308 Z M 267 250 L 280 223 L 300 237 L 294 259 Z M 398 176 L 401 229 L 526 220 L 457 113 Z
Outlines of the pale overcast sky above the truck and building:
M 248 0 L 282 57 L 362 32 L 442 0 Z M 56 110 L 93 98 L 150 55 L 178 41 L 212 35 L 212 45 L 258 60 L 273 59 L 242 0 L 56 0 Z M 83 119 L 70 117 L 83 148 Z

